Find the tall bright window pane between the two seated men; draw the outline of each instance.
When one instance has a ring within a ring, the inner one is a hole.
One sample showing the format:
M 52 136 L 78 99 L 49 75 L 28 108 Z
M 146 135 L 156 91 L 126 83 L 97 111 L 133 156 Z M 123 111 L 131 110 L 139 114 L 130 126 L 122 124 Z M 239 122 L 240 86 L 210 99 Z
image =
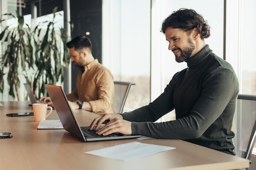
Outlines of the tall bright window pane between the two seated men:
M 150 101 L 150 1 L 103 0 L 103 65 L 116 81 L 135 82 L 125 111 Z

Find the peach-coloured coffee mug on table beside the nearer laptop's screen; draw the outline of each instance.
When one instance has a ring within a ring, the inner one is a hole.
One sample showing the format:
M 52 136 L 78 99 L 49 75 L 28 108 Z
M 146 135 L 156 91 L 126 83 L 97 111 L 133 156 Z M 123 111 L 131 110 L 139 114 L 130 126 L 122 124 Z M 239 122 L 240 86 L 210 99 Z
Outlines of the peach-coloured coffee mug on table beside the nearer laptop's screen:
M 46 117 L 48 117 L 52 113 L 52 107 L 48 106 L 47 104 L 44 103 L 34 103 L 32 104 L 33 111 L 34 111 L 34 119 L 35 121 L 41 121 L 45 120 Z M 49 113 L 47 113 L 47 109 L 49 110 Z

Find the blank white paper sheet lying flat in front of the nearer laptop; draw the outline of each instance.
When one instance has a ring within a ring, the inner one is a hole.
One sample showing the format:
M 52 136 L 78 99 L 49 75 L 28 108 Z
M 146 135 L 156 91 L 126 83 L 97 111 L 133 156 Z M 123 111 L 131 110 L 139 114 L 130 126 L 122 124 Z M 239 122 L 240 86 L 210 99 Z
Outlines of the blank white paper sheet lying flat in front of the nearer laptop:
M 121 161 L 128 161 L 131 159 L 137 159 L 147 155 L 152 155 L 158 152 L 175 149 L 169 146 L 160 146 L 153 144 L 143 144 L 140 142 L 130 142 L 127 144 L 121 144 L 103 148 L 99 150 L 92 150 L 84 152 L 85 154 L 97 155 L 100 157 L 107 157 L 112 159 L 118 159 Z

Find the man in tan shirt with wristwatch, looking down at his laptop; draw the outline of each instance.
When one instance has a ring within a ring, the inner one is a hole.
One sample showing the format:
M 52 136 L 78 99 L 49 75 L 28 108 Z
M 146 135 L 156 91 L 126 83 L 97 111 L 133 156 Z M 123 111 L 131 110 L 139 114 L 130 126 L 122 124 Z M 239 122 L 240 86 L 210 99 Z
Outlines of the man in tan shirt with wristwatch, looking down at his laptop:
M 97 113 L 115 113 L 113 108 L 114 80 L 111 72 L 94 59 L 92 43 L 85 36 L 77 36 L 67 42 L 71 61 L 80 68 L 76 77 L 76 89 L 67 94 L 72 109 L 84 109 Z M 49 97 L 40 102 L 52 104 Z

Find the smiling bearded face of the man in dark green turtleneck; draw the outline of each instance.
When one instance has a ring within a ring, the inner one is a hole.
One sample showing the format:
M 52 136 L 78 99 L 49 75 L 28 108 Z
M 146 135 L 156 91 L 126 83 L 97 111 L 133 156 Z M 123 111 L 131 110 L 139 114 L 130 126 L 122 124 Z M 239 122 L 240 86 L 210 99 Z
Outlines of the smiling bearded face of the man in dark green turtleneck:
M 169 42 L 168 49 L 173 51 L 177 62 L 186 62 L 189 57 L 194 55 L 195 44 L 185 31 L 168 27 L 165 35 Z

